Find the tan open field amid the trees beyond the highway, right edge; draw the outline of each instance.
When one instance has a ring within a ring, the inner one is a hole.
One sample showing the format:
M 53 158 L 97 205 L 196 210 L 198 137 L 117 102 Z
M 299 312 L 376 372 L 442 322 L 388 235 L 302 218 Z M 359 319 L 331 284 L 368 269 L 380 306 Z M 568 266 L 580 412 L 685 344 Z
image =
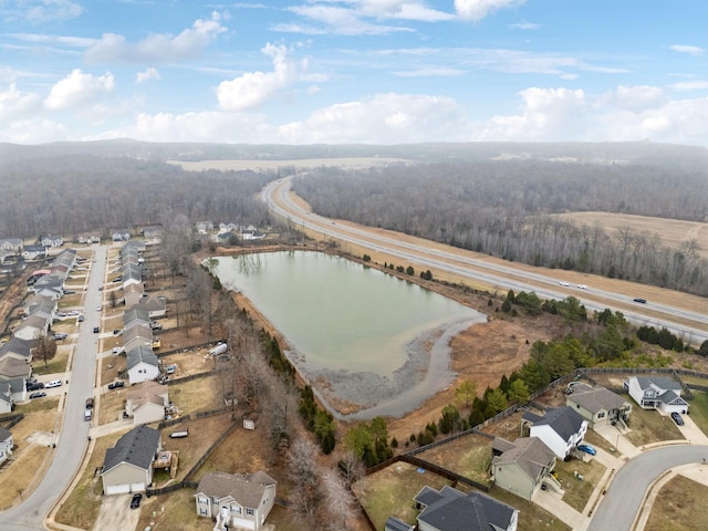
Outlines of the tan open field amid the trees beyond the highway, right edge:
M 708 223 L 613 212 L 570 212 L 558 214 L 555 217 L 577 225 L 598 225 L 612 236 L 625 228 L 633 232 L 656 235 L 664 246 L 673 248 L 696 240 L 698 253 L 708 259 Z

